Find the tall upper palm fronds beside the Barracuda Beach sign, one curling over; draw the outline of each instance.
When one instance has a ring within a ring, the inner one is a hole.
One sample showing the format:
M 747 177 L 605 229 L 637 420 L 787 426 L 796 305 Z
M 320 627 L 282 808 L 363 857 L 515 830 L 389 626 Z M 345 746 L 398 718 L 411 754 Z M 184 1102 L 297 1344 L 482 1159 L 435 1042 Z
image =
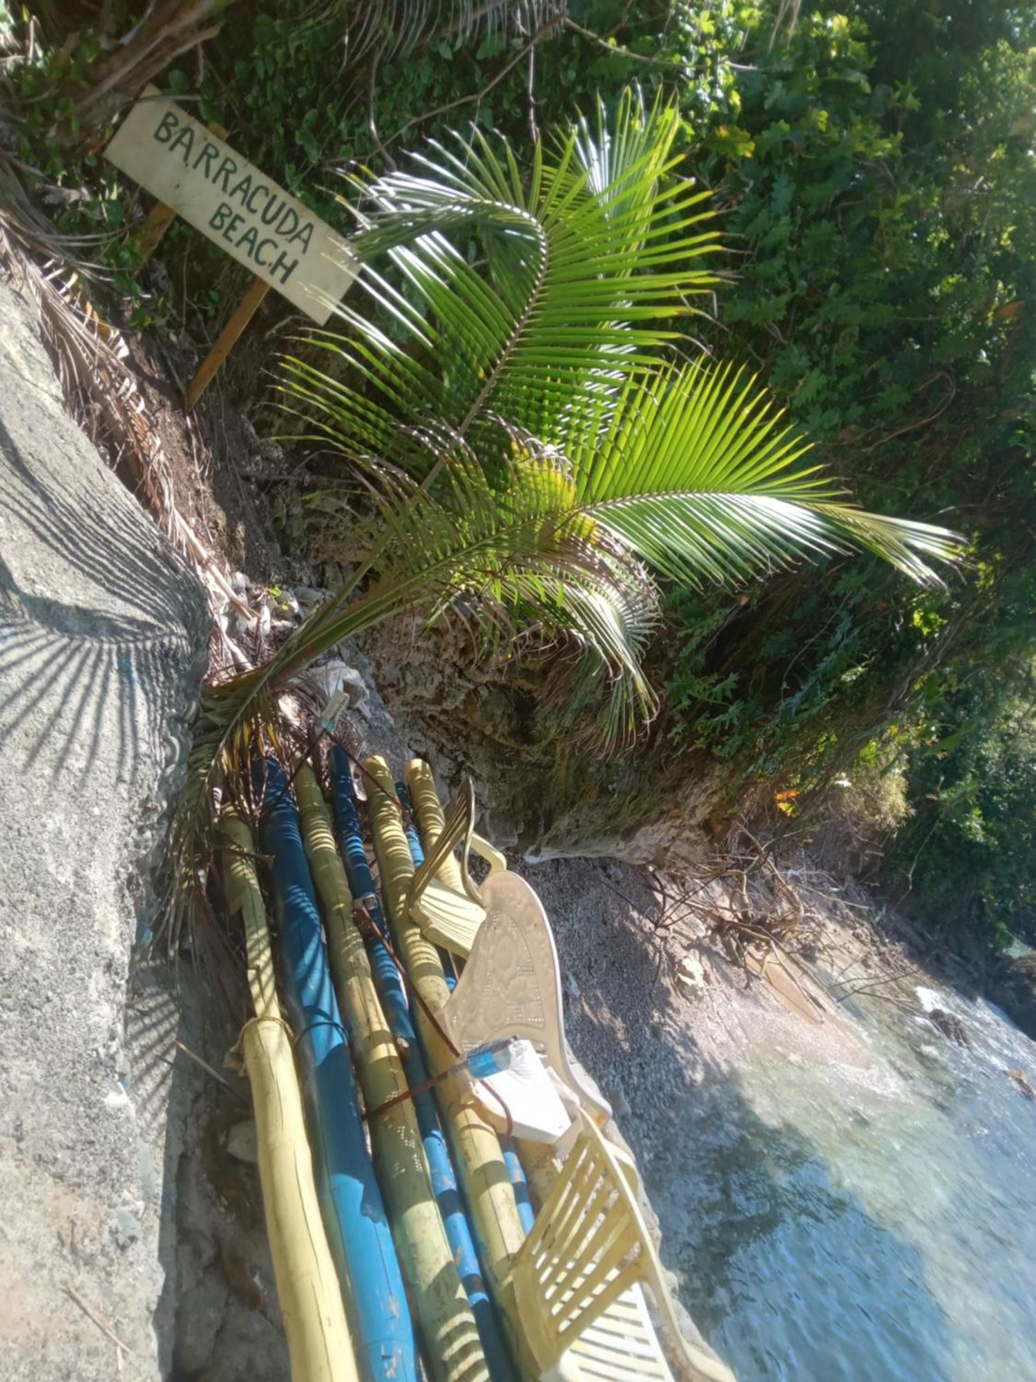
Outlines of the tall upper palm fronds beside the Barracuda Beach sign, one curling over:
M 420 173 L 362 188 L 355 249 L 362 305 L 344 304 L 347 334 L 315 343 L 338 357 L 338 379 L 289 359 L 305 435 L 365 463 L 414 468 L 401 424 L 454 428 L 478 444 L 488 416 L 570 444 L 595 401 L 658 361 L 677 337 L 660 325 L 695 311 L 716 283 L 702 267 L 717 235 L 703 193 L 673 181 L 678 115 L 623 98 L 609 133 L 582 122 L 553 156 L 533 151 L 524 180 L 501 140 L 475 131 L 457 152 L 432 145 Z M 477 235 L 485 265 L 454 240 Z M 388 260 L 390 272 L 372 260 Z M 345 379 L 341 377 L 345 368 Z

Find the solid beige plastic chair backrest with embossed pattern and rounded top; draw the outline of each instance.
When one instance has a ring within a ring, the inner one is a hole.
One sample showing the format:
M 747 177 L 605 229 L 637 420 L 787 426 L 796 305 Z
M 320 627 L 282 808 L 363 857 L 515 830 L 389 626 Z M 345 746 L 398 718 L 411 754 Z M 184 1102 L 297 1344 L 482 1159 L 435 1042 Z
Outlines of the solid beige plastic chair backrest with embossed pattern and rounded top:
M 558 952 L 543 904 L 525 879 L 510 871 L 489 875 L 482 901 L 486 919 L 441 1021 L 461 1050 L 503 1036 L 539 1042 L 547 1064 L 580 1106 L 606 1121 L 611 1107 L 568 1057 Z

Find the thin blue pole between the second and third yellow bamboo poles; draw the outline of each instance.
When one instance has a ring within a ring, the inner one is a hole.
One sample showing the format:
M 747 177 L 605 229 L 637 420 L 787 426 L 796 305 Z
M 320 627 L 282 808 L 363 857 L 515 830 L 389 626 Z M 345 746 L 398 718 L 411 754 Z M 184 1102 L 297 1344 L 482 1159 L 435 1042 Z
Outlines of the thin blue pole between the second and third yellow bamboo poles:
M 352 774 L 349 773 L 348 759 L 337 745 L 332 749 L 332 796 L 334 800 L 334 825 L 338 836 L 338 849 L 345 860 L 349 891 L 354 898 L 366 900 L 370 915 L 374 918 L 378 930 L 384 934 L 387 926 L 374 890 L 374 879 L 367 864 L 367 854 L 363 849 L 363 832 L 356 795 L 352 786 Z M 369 940 L 367 951 L 381 1006 L 392 1028 L 392 1035 L 399 1043 L 399 1057 L 406 1072 L 406 1082 L 413 1089 L 416 1085 L 424 1083 L 428 1078 L 428 1067 L 424 1063 L 417 1032 L 410 1020 L 410 1005 L 406 991 L 395 960 L 381 941 Z M 421 1130 L 424 1154 L 428 1161 L 432 1191 L 439 1205 L 446 1237 L 453 1248 L 464 1294 L 475 1316 L 486 1365 L 493 1382 L 510 1382 L 514 1376 L 514 1370 L 511 1368 L 500 1327 L 496 1323 L 493 1303 L 489 1299 L 489 1292 L 482 1278 L 475 1242 L 457 1187 L 457 1176 L 453 1171 L 449 1147 L 431 1093 L 425 1090 L 421 1095 L 416 1095 L 413 1104 L 417 1114 L 417 1126 Z

